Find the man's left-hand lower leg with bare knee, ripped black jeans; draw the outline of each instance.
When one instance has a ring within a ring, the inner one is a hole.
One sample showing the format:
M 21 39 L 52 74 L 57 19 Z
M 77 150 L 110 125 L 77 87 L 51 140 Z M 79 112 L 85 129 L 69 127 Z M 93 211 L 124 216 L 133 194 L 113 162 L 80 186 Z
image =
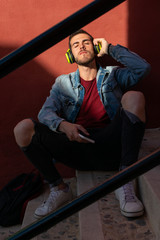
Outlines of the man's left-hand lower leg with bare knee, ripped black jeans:
M 52 162 L 53 156 L 41 143 L 42 137 L 36 123 L 31 119 L 25 119 L 17 124 L 14 134 L 18 146 L 32 164 L 42 173 L 45 180 L 63 187 L 61 176 Z

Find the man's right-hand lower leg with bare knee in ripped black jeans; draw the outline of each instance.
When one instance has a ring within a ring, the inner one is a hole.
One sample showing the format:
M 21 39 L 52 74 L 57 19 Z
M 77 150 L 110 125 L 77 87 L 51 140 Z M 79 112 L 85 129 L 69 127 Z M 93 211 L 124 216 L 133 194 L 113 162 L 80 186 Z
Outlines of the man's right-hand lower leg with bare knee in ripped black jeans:
M 141 92 L 128 91 L 122 97 L 122 162 L 129 166 L 138 159 L 138 153 L 145 131 L 145 99 Z

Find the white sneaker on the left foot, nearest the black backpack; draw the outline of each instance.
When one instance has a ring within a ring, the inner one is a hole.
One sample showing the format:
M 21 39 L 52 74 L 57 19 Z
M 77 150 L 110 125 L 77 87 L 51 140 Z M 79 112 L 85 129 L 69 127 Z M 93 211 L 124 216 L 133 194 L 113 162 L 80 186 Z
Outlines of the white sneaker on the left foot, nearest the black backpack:
M 68 189 L 66 190 L 59 190 L 58 187 L 52 187 L 48 199 L 36 209 L 34 213 L 35 218 L 46 216 L 64 203 L 71 201 L 72 198 L 73 196 L 70 186 L 68 186 Z

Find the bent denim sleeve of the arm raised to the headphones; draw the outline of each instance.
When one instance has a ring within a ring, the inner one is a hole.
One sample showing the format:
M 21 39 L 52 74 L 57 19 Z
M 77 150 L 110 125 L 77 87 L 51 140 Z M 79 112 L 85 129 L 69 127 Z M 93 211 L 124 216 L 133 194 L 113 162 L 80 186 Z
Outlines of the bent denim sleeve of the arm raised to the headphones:
M 124 65 L 124 68 L 119 67 L 115 72 L 116 80 L 123 91 L 137 84 L 150 71 L 150 65 L 143 58 L 121 45 L 111 45 L 109 55 Z

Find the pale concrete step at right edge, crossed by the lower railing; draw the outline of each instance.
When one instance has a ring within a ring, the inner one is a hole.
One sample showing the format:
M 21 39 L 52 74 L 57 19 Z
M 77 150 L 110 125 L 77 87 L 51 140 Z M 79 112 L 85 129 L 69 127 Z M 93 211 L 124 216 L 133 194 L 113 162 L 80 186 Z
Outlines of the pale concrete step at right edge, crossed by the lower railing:
M 139 158 L 152 153 L 159 147 L 160 128 L 147 129 Z M 156 240 L 160 240 L 160 165 L 140 176 L 138 182 L 146 215 L 156 235 Z

